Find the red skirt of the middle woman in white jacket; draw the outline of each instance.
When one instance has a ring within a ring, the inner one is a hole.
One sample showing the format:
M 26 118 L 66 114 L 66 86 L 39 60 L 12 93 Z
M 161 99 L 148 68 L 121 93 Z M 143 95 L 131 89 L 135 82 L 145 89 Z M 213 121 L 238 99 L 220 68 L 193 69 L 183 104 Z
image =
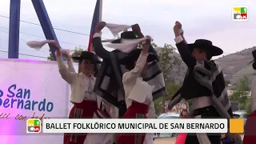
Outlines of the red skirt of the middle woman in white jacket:
M 146 118 L 148 106 L 133 102 L 122 118 Z M 143 144 L 146 134 L 118 134 L 117 144 Z

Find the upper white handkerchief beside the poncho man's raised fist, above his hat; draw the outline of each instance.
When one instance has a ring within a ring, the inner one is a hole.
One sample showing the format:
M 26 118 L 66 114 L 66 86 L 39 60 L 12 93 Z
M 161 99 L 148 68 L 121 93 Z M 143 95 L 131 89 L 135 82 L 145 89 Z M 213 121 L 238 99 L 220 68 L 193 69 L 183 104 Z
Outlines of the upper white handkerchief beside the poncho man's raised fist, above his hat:
M 131 28 L 130 25 L 118 25 L 113 23 L 106 23 L 106 27 L 110 30 L 114 37 L 117 37 L 118 33 L 120 33 L 121 31 Z

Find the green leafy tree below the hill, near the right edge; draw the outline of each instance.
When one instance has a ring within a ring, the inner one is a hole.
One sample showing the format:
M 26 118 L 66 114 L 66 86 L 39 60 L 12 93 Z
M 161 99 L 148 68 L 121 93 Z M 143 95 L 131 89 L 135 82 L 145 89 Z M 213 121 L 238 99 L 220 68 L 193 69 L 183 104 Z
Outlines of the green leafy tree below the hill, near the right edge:
M 239 108 L 245 110 L 249 91 L 250 86 L 248 78 L 244 76 L 240 82 L 234 84 L 234 93 L 231 95 L 230 100 L 237 101 L 239 103 Z

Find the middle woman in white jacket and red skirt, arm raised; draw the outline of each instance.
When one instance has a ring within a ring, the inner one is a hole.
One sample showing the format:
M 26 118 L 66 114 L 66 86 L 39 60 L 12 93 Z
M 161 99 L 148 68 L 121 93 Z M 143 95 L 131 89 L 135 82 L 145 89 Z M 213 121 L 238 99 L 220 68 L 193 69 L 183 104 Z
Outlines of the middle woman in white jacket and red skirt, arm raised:
M 142 74 L 146 72 L 147 62 L 157 59 L 156 55 L 149 54 L 150 39 L 143 45 L 142 50 L 134 50 L 130 57 L 123 60 L 126 69 L 122 82 L 126 94 L 127 111 L 122 118 L 155 118 L 152 90 L 154 87 L 143 81 Z M 118 134 L 118 144 L 143 144 L 146 134 Z M 154 136 L 154 134 L 153 134 Z M 154 137 L 153 137 L 154 138 Z M 151 143 L 154 143 L 153 138 Z

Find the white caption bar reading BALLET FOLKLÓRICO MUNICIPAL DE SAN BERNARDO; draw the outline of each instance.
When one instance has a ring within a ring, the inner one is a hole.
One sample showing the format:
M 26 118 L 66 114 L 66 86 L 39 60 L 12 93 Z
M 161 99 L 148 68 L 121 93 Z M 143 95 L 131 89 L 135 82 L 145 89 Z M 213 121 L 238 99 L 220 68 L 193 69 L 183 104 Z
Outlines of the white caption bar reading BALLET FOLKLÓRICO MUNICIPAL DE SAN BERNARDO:
M 43 133 L 227 133 L 227 119 L 43 119 Z

